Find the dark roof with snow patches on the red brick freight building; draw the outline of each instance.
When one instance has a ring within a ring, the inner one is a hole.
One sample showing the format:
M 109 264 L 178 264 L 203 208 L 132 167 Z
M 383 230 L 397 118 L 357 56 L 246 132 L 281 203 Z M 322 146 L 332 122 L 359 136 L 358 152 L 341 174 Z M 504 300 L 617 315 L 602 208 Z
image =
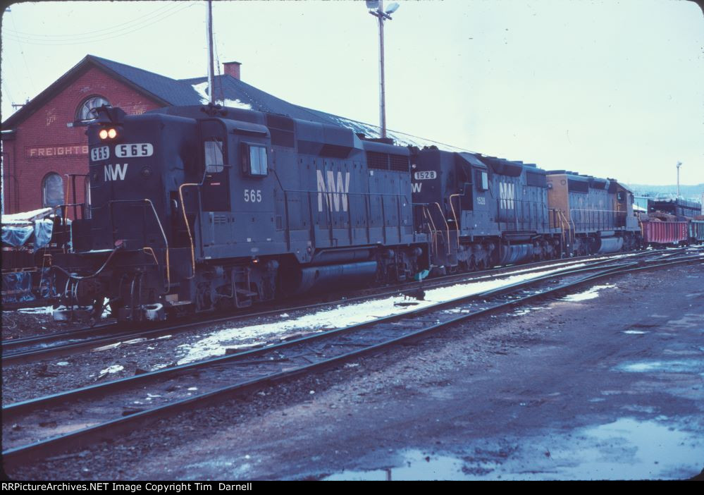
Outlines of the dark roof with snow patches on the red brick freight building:
M 208 101 L 208 78 L 206 77 L 178 80 L 168 78 L 165 75 L 145 71 L 137 67 L 128 66 L 125 63 L 103 59 L 99 56 L 87 55 L 67 73 L 62 75 L 61 78 L 58 78 L 58 80 L 47 87 L 46 90 L 39 93 L 35 98 L 30 100 L 30 102 L 7 118 L 6 121 L 2 123 L 3 129 L 16 128 L 25 118 L 42 108 L 56 93 L 68 87 L 68 85 L 80 77 L 80 75 L 93 67 L 108 73 L 113 78 L 120 80 L 125 85 L 132 87 L 135 91 L 144 94 L 157 104 L 163 106 L 197 105 L 207 103 Z M 378 126 L 292 104 L 273 96 L 273 94 L 259 90 L 257 87 L 249 85 L 242 80 L 233 78 L 233 76 L 229 74 L 216 75 L 214 77 L 213 86 L 216 100 L 222 102 L 224 106 L 235 106 L 271 114 L 282 114 L 290 116 L 291 118 L 350 128 L 354 133 L 363 133 L 368 138 L 380 137 Z M 400 133 L 394 130 L 388 130 L 387 135 L 399 145 L 412 145 L 417 147 L 435 145 L 440 149 L 447 149 L 449 151 L 469 151 L 467 149 L 444 145 L 440 142 L 418 138 L 417 136 Z

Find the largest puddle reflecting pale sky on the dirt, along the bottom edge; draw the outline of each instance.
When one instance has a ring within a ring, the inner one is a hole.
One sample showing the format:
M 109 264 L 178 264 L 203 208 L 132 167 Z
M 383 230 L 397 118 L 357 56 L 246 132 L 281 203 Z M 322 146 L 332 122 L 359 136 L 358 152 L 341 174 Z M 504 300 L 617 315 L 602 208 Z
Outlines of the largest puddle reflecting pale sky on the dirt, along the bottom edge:
M 704 460 L 700 436 L 632 418 L 501 448 L 494 441 L 480 443 L 459 456 L 417 449 L 390 453 L 391 467 L 345 470 L 323 479 L 684 479 L 697 475 Z

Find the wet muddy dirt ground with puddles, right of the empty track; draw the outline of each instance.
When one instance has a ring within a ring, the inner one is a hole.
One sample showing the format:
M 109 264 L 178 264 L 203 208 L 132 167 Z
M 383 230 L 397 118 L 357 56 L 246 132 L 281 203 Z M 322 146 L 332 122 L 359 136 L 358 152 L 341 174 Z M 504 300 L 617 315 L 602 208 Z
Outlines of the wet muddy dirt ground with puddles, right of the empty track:
M 25 466 L 25 479 L 683 479 L 704 265 L 600 281 Z M 139 463 L 135 463 L 139 459 Z

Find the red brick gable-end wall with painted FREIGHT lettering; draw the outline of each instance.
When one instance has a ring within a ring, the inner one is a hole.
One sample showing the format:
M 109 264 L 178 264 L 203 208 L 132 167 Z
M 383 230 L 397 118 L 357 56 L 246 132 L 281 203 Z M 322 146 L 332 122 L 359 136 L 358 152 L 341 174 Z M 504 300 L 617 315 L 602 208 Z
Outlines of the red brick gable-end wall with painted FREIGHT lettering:
M 89 68 L 73 84 L 58 92 L 47 104 L 25 119 L 15 135 L 3 138 L 5 213 L 27 212 L 42 207 L 42 180 L 48 173 L 63 177 L 65 202 L 66 173 L 87 173 L 88 140 L 85 127 L 69 128 L 76 111 L 88 97 L 101 96 L 128 114 L 143 114 L 159 104 L 112 78 L 98 68 Z M 84 185 L 77 180 L 76 198 L 84 201 Z

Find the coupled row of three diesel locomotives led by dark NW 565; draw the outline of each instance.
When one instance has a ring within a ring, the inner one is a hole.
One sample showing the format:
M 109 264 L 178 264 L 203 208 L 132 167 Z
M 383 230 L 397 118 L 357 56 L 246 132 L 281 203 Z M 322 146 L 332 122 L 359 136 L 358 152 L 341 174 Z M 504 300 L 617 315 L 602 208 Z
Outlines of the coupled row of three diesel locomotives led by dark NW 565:
M 109 305 L 161 320 L 641 243 L 613 180 L 245 109 L 98 114 L 56 319 Z

